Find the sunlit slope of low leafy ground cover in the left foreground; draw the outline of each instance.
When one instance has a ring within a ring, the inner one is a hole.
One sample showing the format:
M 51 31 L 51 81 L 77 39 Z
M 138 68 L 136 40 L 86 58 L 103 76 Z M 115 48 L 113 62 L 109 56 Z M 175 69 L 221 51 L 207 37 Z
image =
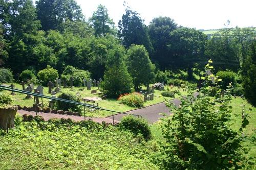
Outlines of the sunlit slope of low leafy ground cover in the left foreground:
M 0 169 L 158 169 L 150 161 L 154 144 L 116 127 L 42 131 L 26 124 L 0 136 Z

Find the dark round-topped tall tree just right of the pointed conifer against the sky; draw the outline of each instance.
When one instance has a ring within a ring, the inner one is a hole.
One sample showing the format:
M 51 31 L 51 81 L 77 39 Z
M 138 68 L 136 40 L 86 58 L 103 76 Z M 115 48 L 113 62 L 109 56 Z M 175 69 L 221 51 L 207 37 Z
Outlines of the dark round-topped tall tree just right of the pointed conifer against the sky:
M 148 26 L 148 33 L 155 50 L 151 58 L 154 62 L 157 62 L 162 69 L 166 67 L 166 58 L 168 58 L 169 55 L 167 43 L 170 38 L 170 32 L 175 29 L 177 29 L 177 24 L 174 20 L 162 16 L 154 18 Z

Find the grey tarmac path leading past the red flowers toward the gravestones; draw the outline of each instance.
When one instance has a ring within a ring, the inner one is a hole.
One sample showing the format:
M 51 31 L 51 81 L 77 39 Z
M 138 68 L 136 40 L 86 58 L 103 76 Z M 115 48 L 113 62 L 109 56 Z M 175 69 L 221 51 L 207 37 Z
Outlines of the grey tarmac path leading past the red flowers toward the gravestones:
M 198 95 L 198 92 L 195 92 L 194 96 L 197 96 L 197 95 Z M 176 106 L 179 106 L 181 104 L 181 101 L 179 99 L 173 99 L 173 100 L 171 100 L 171 102 L 173 102 Z M 147 122 L 149 122 L 149 123 L 157 122 L 159 120 L 159 118 L 164 117 L 160 113 L 165 113 L 166 115 L 172 114 L 169 111 L 169 108 L 165 105 L 165 102 L 158 103 L 158 104 L 151 105 L 151 106 L 146 106 L 146 107 L 143 107 L 140 109 L 131 110 L 131 111 L 128 111 L 125 113 L 140 115 L 141 117 L 147 119 Z M 120 121 L 121 118 L 123 116 L 126 116 L 127 114 L 123 114 L 123 113 L 115 114 L 114 120 Z M 112 116 L 108 116 L 107 118 L 112 119 Z

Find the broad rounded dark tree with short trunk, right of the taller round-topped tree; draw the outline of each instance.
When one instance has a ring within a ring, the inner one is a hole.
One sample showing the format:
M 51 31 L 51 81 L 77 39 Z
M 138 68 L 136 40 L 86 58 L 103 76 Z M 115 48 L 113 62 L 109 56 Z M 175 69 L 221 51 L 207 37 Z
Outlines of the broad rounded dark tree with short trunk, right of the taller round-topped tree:
M 206 35 L 196 29 L 181 27 L 172 31 L 167 44 L 172 58 L 166 62 L 172 63 L 173 67 L 187 69 L 188 79 L 192 79 L 192 68 L 198 61 L 205 60 L 206 38 Z

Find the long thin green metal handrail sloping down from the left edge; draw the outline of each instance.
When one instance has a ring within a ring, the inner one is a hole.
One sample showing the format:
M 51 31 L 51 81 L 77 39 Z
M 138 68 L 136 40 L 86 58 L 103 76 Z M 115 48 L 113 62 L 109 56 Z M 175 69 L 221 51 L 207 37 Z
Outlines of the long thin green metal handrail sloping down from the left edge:
M 30 92 L 30 91 L 25 91 L 25 90 L 20 90 L 20 89 L 17 89 L 17 88 L 11 88 L 11 87 L 7 87 L 7 86 L 3 86 L 3 85 L 0 85 L 0 89 L 8 90 L 8 91 L 14 91 L 14 92 L 23 93 L 23 94 L 29 94 L 29 95 L 38 96 L 40 98 L 50 99 L 50 100 L 54 100 L 54 101 L 67 102 L 69 104 L 80 105 L 80 106 L 83 106 L 83 107 L 90 107 L 90 108 L 94 108 L 94 109 L 97 109 L 97 110 L 110 111 L 110 112 L 112 112 L 112 116 L 113 116 L 113 124 L 114 124 L 114 112 L 115 113 L 122 113 L 122 112 L 118 112 L 118 111 L 114 111 L 114 110 L 102 109 L 100 107 L 90 105 L 90 104 L 83 104 L 83 103 L 80 103 L 80 102 L 70 101 L 70 100 L 66 100 L 66 99 L 54 98 L 54 97 L 51 97 L 51 96 L 42 95 L 42 94 L 38 94 L 38 93 Z M 123 113 L 123 114 L 135 115 L 135 116 L 138 116 L 138 117 L 140 116 L 142 118 L 141 115 L 129 114 L 129 113 Z M 84 114 L 84 116 L 85 116 L 85 114 Z

